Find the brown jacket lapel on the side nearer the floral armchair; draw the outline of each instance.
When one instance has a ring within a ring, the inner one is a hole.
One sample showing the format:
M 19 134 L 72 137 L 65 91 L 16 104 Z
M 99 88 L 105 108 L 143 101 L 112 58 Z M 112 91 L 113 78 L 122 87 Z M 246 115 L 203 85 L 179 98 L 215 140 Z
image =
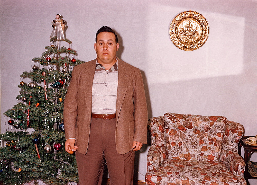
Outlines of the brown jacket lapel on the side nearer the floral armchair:
M 118 58 L 117 58 L 118 59 Z M 121 106 L 125 98 L 129 80 L 128 67 L 125 62 L 118 59 L 118 89 L 117 89 L 117 101 L 116 101 L 116 123 L 121 111 Z

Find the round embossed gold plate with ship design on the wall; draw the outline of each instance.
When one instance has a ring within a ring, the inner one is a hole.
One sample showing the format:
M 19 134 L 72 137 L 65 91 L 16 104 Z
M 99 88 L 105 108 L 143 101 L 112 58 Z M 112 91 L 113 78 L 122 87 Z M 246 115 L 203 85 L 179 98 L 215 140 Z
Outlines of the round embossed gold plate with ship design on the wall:
M 170 24 L 170 38 L 179 49 L 192 51 L 204 45 L 209 36 L 207 20 L 198 12 L 178 14 Z

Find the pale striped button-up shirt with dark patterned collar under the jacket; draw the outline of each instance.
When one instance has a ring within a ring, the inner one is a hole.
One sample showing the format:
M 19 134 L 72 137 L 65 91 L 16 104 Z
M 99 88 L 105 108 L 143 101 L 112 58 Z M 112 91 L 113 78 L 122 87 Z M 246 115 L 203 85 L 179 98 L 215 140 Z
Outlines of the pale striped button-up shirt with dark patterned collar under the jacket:
M 107 71 L 103 65 L 96 61 L 96 70 L 92 87 L 92 113 L 116 113 L 117 88 L 118 60 Z

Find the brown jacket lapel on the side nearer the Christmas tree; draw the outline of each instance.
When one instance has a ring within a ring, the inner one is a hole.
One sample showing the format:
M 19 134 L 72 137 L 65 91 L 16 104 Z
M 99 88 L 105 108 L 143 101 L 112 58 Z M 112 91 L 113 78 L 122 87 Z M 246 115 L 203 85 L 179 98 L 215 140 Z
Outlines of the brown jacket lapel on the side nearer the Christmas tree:
M 92 86 L 94 81 L 94 75 L 95 75 L 95 68 L 96 68 L 96 59 L 89 61 L 89 64 L 85 71 L 82 73 L 81 76 L 81 84 L 83 85 L 84 89 L 84 95 L 85 95 L 85 102 L 86 102 L 86 108 L 88 112 L 89 118 L 91 118 L 92 113 Z M 91 119 L 90 119 L 91 121 Z

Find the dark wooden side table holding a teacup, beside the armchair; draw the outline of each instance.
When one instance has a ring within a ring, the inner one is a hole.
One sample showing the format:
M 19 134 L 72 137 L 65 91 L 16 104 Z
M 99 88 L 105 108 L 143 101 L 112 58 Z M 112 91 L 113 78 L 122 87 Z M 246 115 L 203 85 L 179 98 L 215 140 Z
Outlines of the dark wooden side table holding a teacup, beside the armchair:
M 241 155 L 241 149 L 242 146 L 244 147 L 244 162 L 245 162 L 245 170 L 244 170 L 244 178 L 246 179 L 257 179 L 256 177 L 252 177 L 252 175 L 249 174 L 248 172 L 248 161 L 249 161 L 249 156 L 252 152 L 257 152 L 257 146 L 253 145 L 247 145 L 245 144 L 246 138 L 248 137 L 255 137 L 255 136 L 243 136 L 239 143 L 238 143 L 238 154 Z

